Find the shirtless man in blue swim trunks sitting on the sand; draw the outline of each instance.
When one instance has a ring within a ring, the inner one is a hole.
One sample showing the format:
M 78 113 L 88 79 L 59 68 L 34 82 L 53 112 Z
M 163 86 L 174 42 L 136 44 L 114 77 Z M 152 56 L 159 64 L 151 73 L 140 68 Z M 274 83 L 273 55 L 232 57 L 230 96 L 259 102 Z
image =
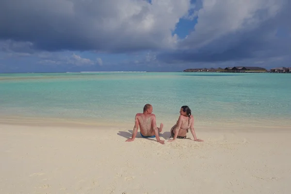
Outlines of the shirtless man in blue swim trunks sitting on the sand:
M 132 142 L 138 131 L 138 127 L 141 129 L 142 137 L 156 137 L 160 144 L 164 144 L 163 140 L 160 140 L 159 132 L 162 132 L 163 124 L 161 123 L 160 128 L 157 128 L 156 115 L 152 114 L 153 107 L 150 104 L 144 106 L 144 113 L 137 113 L 135 115 L 135 124 L 132 132 L 131 139 L 126 142 Z

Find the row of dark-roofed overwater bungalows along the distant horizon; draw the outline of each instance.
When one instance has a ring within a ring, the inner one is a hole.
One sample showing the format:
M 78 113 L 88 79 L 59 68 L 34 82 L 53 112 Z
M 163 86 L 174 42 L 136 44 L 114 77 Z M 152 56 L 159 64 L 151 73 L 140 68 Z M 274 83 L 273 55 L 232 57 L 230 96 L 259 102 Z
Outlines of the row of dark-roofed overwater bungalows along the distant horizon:
M 235 66 L 226 68 L 192 68 L 185 69 L 183 72 L 218 72 L 218 73 L 291 73 L 291 67 L 276 67 L 267 70 L 263 67 L 254 66 Z

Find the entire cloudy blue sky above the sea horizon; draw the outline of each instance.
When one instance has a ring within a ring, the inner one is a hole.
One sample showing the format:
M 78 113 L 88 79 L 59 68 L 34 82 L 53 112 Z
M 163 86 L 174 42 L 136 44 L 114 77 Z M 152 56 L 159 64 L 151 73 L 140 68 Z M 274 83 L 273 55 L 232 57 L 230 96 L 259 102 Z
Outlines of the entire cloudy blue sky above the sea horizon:
M 0 73 L 291 66 L 290 0 L 1 0 Z

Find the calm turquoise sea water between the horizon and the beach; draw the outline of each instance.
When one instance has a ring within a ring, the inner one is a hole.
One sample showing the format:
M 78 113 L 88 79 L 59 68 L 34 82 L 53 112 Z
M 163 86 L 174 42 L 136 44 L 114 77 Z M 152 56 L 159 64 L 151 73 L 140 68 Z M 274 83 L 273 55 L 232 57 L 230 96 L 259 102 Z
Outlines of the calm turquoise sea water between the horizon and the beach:
M 133 122 L 146 103 L 175 123 L 188 105 L 200 124 L 289 125 L 291 74 L 0 74 L 0 115 Z

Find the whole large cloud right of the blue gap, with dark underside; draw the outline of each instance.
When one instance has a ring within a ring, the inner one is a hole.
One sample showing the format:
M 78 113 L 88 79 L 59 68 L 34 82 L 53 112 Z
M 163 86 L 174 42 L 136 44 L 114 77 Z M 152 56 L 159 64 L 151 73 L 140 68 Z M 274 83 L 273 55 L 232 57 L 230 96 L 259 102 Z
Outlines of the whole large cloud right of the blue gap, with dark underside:
M 167 63 L 223 63 L 266 61 L 291 53 L 287 0 L 203 0 L 194 31 L 179 41 L 178 49 L 164 52 Z

